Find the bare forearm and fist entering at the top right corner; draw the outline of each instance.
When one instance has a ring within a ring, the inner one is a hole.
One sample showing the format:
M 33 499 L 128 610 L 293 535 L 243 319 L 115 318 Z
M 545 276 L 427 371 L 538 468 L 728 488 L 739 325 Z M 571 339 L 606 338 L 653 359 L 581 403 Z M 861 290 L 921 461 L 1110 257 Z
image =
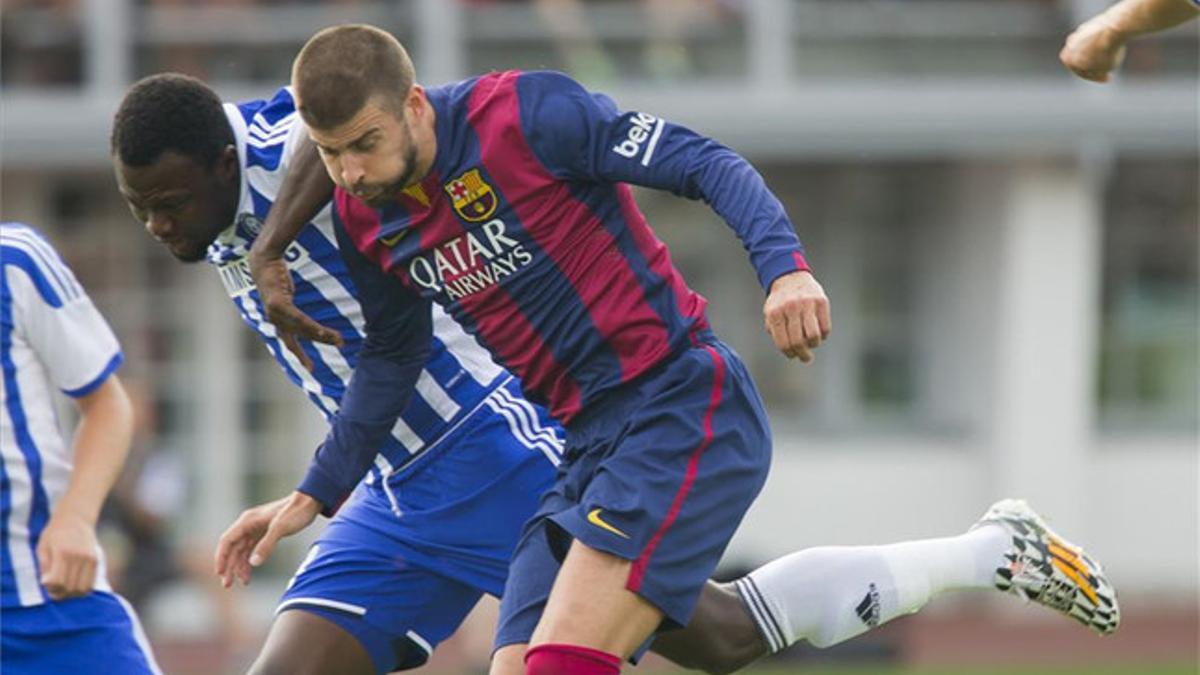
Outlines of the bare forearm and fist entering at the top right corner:
M 1126 43 L 1177 26 L 1200 16 L 1198 0 L 1122 0 L 1079 25 L 1058 53 L 1068 70 L 1084 79 L 1108 82 L 1121 66 Z

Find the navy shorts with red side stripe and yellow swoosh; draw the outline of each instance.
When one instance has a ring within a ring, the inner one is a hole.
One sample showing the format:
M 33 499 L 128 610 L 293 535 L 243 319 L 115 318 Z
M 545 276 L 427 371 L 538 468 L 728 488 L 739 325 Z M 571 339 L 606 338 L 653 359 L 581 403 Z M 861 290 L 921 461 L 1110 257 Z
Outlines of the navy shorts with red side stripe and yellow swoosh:
M 625 587 L 662 611 L 664 628 L 685 626 L 769 465 L 762 400 L 704 331 L 568 428 L 554 488 L 510 568 L 496 647 L 528 641 L 571 539 L 632 561 Z

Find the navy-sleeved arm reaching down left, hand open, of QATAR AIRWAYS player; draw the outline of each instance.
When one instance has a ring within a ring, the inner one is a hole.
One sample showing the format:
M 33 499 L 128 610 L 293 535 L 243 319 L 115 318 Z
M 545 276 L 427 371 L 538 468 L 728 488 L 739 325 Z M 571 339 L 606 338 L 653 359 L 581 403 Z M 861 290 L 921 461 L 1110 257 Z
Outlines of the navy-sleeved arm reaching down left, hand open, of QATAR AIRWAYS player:
M 247 562 L 252 566 L 262 565 L 280 538 L 304 530 L 318 513 L 332 515 L 337 510 L 371 470 L 379 448 L 408 406 L 430 356 L 433 335 L 430 301 L 365 258 L 346 233 L 336 208 L 334 220 L 338 247 L 366 318 L 366 339 L 325 441 L 296 491 L 282 506 L 276 504 L 266 531 L 250 552 Z M 222 537 L 218 574 L 228 575 L 229 568 L 239 565 L 223 563 L 222 549 L 234 556 L 238 550 L 246 552 L 247 549 L 238 549 L 230 540 L 238 538 L 246 537 L 239 533 L 230 537 L 228 532 Z M 248 578 L 245 567 L 234 568 L 233 573 Z

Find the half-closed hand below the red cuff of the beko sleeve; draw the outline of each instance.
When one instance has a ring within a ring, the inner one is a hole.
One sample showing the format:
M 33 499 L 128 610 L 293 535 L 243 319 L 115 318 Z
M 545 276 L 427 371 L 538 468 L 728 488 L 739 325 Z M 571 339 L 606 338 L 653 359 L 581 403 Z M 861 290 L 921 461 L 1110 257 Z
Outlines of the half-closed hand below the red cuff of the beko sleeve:
M 812 350 L 829 338 L 829 298 L 808 271 L 793 271 L 770 285 L 762 307 L 767 333 L 790 359 L 812 360 Z

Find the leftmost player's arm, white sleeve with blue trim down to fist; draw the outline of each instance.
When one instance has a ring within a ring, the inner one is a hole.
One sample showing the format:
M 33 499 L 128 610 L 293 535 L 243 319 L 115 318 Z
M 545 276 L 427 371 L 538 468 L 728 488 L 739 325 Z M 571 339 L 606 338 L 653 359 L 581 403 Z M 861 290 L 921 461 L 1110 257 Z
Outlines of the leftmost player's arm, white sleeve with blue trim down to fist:
M 5 249 L 5 257 L 26 273 L 10 276 L 17 329 L 50 382 L 79 406 L 71 479 L 38 539 L 37 561 L 41 583 L 52 598 L 82 596 L 96 581 L 100 507 L 125 464 L 133 434 L 132 407 L 114 375 L 121 350 L 56 256 L 35 264 L 19 250 Z

